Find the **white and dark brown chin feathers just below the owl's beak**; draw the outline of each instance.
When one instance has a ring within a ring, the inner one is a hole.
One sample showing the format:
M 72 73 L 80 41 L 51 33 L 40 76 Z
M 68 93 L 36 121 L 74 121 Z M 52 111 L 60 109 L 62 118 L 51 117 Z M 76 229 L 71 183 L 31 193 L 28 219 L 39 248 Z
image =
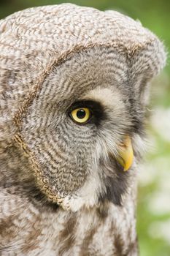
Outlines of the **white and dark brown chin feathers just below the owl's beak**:
M 104 167 L 103 167 L 104 171 Z M 133 171 L 133 170 L 131 170 Z M 130 188 L 131 175 L 125 173 L 117 166 L 116 177 L 105 176 L 101 180 L 99 176 L 88 177 L 85 184 L 72 195 L 53 197 L 53 203 L 57 203 L 65 211 L 79 211 L 81 208 L 97 207 L 99 203 L 112 203 L 115 206 L 123 206 L 125 195 Z

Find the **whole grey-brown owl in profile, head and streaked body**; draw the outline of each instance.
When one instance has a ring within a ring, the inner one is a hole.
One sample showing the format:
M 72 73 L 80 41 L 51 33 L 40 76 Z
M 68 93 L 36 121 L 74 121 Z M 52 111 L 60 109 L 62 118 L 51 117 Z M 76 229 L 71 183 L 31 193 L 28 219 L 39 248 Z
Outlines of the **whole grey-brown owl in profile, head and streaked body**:
M 163 43 L 74 4 L 0 20 L 1 256 L 138 255 L 136 176 Z

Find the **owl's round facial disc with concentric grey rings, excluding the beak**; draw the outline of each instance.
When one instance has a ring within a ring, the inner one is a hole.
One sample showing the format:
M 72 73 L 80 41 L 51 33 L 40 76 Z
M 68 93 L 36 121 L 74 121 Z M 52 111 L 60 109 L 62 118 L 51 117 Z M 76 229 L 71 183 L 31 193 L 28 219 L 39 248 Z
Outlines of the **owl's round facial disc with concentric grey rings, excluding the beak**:
M 114 47 L 80 50 L 53 67 L 29 106 L 22 136 L 39 166 L 35 182 L 53 203 L 73 211 L 102 200 L 120 205 L 133 184 L 136 159 L 124 172 L 116 158 L 126 135 L 136 155 L 142 132 L 131 67 Z

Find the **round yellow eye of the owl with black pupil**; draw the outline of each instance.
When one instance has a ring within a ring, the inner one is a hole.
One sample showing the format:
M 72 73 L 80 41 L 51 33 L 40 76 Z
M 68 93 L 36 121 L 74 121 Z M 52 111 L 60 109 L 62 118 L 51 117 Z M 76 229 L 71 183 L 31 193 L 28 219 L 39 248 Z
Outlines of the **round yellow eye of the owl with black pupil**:
M 76 108 L 72 110 L 71 116 L 77 123 L 83 124 L 90 119 L 90 110 L 88 108 Z

